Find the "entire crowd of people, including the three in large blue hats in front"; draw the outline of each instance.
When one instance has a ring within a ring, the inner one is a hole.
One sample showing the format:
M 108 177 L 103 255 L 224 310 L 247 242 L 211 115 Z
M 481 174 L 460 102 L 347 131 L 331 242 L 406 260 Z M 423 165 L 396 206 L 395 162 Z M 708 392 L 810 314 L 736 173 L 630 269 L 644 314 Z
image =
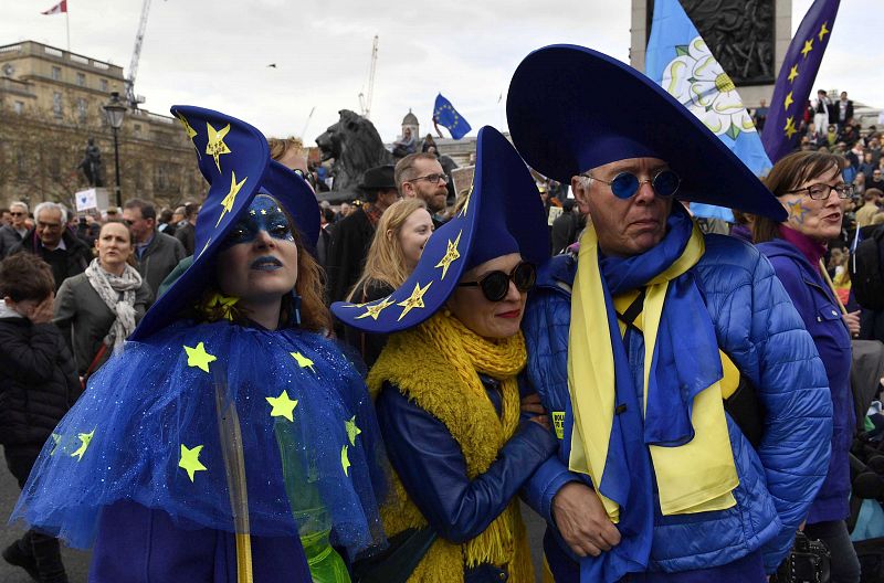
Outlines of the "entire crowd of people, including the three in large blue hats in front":
M 599 84 L 628 115 L 576 115 Z M 63 583 L 62 539 L 95 582 L 528 582 L 522 498 L 545 581 L 765 582 L 796 537 L 860 581 L 852 342 L 884 316 L 851 258 L 884 166 L 846 94 L 759 180 L 640 73 L 551 46 L 471 188 L 407 135 L 337 210 L 297 140 L 173 113 L 201 203 L 3 211 L 8 563 Z M 232 148 L 192 130 L 220 125 Z

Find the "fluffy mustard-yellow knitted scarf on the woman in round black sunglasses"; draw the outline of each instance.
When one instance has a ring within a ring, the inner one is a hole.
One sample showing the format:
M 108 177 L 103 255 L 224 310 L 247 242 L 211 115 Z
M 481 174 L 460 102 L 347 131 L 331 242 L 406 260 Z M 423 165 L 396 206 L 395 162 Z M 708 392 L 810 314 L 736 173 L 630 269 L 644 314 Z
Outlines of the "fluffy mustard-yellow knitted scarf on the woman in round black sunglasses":
M 385 381 L 439 418 L 460 445 L 470 479 L 486 471 L 515 433 L 519 421 L 516 374 L 525 367 L 522 332 L 502 340 L 482 338 L 456 318 L 439 312 L 421 326 L 390 337 L 368 375 L 377 395 Z M 478 373 L 501 381 L 498 417 Z M 427 526 L 393 476 L 390 496 L 381 508 L 388 537 Z M 464 566 L 491 563 L 505 568 L 513 583 L 533 581 L 533 568 L 518 500 L 514 499 L 484 532 L 455 544 L 436 539 L 409 582 L 460 583 Z

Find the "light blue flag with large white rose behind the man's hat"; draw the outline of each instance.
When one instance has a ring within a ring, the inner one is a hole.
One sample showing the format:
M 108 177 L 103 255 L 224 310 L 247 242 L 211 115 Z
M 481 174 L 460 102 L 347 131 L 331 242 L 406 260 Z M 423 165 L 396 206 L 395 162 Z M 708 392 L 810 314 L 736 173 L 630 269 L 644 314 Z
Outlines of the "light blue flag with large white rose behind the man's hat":
M 656 0 L 645 73 L 737 155 L 755 176 L 772 166 L 734 82 L 718 64 L 678 0 Z M 691 203 L 696 216 L 734 222 L 730 209 Z

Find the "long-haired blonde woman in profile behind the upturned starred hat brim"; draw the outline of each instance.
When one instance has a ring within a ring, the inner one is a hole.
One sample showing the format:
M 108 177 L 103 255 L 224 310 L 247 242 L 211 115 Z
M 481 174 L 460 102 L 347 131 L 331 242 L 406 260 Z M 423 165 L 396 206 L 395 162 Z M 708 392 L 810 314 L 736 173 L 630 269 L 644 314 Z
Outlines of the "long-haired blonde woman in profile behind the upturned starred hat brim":
M 378 221 L 362 275 L 347 301 L 365 304 L 392 294 L 414 271 L 432 234 L 433 218 L 425 202 L 407 199 L 391 204 Z M 344 339 L 359 350 L 369 368 L 387 344 L 387 335 L 368 333 L 350 326 L 344 328 Z

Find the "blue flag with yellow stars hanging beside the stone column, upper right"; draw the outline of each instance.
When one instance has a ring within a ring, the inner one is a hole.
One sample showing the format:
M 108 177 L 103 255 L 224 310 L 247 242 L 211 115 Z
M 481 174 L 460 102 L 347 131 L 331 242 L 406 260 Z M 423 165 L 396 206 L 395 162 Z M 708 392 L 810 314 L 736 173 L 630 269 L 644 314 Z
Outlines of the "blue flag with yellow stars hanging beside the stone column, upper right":
M 782 61 L 761 135 L 772 162 L 796 149 L 810 91 L 838 15 L 840 0 L 815 0 L 798 26 Z

